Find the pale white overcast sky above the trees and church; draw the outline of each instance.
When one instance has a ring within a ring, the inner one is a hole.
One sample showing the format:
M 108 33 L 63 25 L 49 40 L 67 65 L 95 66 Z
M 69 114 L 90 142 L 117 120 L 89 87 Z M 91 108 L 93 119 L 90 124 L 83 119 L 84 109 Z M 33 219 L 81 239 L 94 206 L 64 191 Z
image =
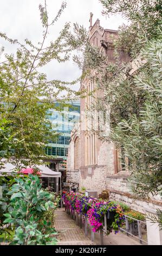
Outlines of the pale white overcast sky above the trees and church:
M 103 28 L 117 30 L 122 23 L 126 23 L 120 15 L 111 16 L 109 19 L 102 16 L 103 8 L 98 0 L 67 0 L 66 2 L 67 8 L 59 21 L 51 27 L 50 40 L 56 38 L 66 22 L 77 22 L 88 29 L 90 12 L 93 13 L 93 24 L 96 19 L 99 19 Z M 26 38 L 34 44 L 41 40 L 42 27 L 38 5 L 40 3 L 43 5 L 43 0 L 0 0 L 0 3 L 1 32 L 5 32 L 10 38 L 18 39 L 21 42 Z M 61 3 L 62 0 L 47 0 L 49 19 L 55 17 Z M 12 45 L 0 38 L 0 46 L 2 45 L 5 47 L 5 52 L 15 51 Z M 1 56 L 2 60 L 3 58 L 4 54 Z M 72 61 L 64 64 L 51 62 L 43 71 L 47 73 L 50 80 L 72 81 L 80 75 L 80 70 Z

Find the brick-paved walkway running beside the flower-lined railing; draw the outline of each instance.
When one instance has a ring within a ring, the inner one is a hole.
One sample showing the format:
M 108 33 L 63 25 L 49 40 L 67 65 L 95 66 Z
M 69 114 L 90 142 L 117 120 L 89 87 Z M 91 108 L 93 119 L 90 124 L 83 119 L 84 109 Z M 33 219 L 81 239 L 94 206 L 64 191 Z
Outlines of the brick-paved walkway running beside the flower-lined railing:
M 99 233 L 95 233 L 95 242 L 92 242 L 90 229 L 86 237 L 84 231 L 76 225 L 76 222 L 70 218 L 64 208 L 57 209 L 55 215 L 55 228 L 58 232 L 59 245 L 100 245 Z M 140 245 L 140 243 L 121 232 L 116 235 L 112 232 L 108 236 L 104 235 L 104 245 Z

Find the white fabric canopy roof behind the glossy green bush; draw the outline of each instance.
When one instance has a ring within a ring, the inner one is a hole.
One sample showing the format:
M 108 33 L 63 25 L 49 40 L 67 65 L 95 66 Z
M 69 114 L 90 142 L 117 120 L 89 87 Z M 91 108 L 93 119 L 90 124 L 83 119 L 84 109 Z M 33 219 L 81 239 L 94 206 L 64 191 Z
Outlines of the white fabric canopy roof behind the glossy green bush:
M 51 170 L 48 168 L 45 164 L 42 165 L 36 165 L 36 167 L 40 170 L 42 177 L 51 177 L 51 178 L 61 178 L 61 172 L 55 172 L 54 170 Z M 11 163 L 4 163 L 4 166 L 2 169 L 0 169 L 0 176 L 5 175 L 14 175 L 14 170 L 16 166 Z

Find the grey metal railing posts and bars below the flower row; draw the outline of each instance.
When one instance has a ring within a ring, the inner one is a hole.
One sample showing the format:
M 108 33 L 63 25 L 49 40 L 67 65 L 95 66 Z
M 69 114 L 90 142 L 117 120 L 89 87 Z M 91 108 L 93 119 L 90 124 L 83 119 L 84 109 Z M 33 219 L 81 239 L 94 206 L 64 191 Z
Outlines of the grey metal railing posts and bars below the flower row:
M 72 210 L 70 210 L 70 207 L 69 205 L 68 206 L 65 206 L 65 210 L 67 212 L 67 214 L 70 215 L 70 217 L 76 221 L 76 225 L 79 225 L 80 228 L 83 227 L 83 216 L 82 214 L 77 214 L 77 212 L 73 212 Z M 127 235 L 131 235 L 131 236 L 134 236 L 136 239 L 137 239 L 137 236 L 136 235 L 133 235 L 132 233 L 129 233 L 128 230 L 129 230 L 129 222 L 128 222 L 128 218 L 131 218 L 133 219 L 134 221 L 137 221 L 138 223 L 138 237 L 139 237 L 139 242 L 140 243 L 146 243 L 147 244 L 147 241 L 145 240 L 142 240 L 142 231 L 141 231 L 141 223 L 144 223 L 146 224 L 146 222 L 144 221 L 139 221 L 135 218 L 132 218 L 132 217 L 129 217 L 127 215 L 125 215 L 125 224 L 126 224 L 126 230 L 123 229 L 123 228 L 120 228 L 121 231 L 124 231 L 127 233 Z M 94 242 L 94 239 L 95 239 L 95 233 L 92 231 L 93 228 L 91 228 L 91 241 Z M 84 231 L 85 231 L 85 236 L 88 236 L 88 219 L 87 217 L 84 216 Z M 106 214 L 104 214 L 104 223 L 103 223 L 103 228 L 100 229 L 99 231 L 99 235 L 100 235 L 100 245 L 104 245 L 104 241 L 103 241 L 103 233 L 107 233 L 107 216 Z

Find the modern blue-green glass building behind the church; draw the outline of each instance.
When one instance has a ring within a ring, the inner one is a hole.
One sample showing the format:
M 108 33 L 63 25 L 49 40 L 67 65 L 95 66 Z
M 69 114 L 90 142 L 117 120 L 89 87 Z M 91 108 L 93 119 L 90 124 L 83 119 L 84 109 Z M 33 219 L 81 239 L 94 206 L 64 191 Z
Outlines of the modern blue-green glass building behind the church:
M 80 120 L 80 100 L 68 102 L 69 107 L 63 107 L 61 111 L 49 109 L 48 119 L 52 123 L 54 131 L 59 133 L 55 141 L 49 141 L 45 151 L 47 155 L 62 158 L 66 165 L 68 147 L 70 141 L 70 133 L 74 125 Z M 59 107 L 59 103 L 56 104 Z M 71 107 L 72 106 L 72 107 Z

